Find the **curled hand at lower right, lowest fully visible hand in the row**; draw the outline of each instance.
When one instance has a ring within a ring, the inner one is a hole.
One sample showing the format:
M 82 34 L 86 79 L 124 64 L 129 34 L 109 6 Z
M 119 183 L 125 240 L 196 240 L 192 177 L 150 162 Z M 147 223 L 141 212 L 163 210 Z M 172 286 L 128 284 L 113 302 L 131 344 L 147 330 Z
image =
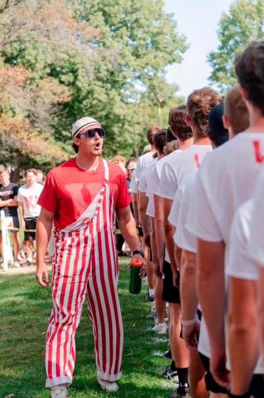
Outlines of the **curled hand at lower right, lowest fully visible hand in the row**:
M 226 369 L 225 363 L 225 351 L 211 351 L 210 372 L 216 383 L 222 387 L 229 385 L 229 371 Z

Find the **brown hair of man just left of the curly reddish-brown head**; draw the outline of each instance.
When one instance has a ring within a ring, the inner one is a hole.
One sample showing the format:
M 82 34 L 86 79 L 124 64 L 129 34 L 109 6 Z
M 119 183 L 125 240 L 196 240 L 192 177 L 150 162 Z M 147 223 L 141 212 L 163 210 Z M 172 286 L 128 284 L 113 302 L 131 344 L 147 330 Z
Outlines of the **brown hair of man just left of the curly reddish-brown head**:
M 177 138 L 179 138 L 181 141 L 186 141 L 193 136 L 191 127 L 185 122 L 186 115 L 186 105 L 176 106 L 169 112 L 169 126 Z

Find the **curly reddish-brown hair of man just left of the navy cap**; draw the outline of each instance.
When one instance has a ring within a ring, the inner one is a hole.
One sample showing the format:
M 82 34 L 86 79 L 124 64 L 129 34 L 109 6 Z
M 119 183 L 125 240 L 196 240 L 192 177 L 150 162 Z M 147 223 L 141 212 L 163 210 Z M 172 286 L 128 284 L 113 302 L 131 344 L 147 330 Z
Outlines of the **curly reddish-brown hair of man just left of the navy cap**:
M 194 90 L 187 100 L 187 113 L 199 137 L 206 137 L 208 114 L 222 102 L 222 97 L 210 87 Z

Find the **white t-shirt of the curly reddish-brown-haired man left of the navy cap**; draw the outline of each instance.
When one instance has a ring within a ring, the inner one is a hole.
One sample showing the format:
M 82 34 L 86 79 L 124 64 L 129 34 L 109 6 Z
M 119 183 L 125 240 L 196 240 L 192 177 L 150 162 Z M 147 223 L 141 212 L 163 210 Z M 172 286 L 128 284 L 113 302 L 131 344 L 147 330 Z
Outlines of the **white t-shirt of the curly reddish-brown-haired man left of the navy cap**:
M 197 171 L 203 158 L 211 151 L 211 145 L 192 145 L 181 151 L 180 155 L 177 153 L 174 158 L 168 159 L 162 167 L 158 195 L 173 200 L 180 182 Z

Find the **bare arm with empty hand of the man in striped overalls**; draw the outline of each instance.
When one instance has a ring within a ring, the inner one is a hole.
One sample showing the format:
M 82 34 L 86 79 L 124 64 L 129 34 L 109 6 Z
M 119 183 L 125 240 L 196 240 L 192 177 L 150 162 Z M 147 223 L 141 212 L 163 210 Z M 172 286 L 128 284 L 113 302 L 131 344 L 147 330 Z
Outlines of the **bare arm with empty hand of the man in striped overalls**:
M 49 286 L 49 274 L 47 264 L 44 262 L 44 257 L 47 251 L 47 246 L 51 237 L 52 222 L 54 212 L 48 211 L 41 207 L 40 215 L 36 227 L 36 279 L 41 286 Z M 44 279 L 43 279 L 44 277 Z

